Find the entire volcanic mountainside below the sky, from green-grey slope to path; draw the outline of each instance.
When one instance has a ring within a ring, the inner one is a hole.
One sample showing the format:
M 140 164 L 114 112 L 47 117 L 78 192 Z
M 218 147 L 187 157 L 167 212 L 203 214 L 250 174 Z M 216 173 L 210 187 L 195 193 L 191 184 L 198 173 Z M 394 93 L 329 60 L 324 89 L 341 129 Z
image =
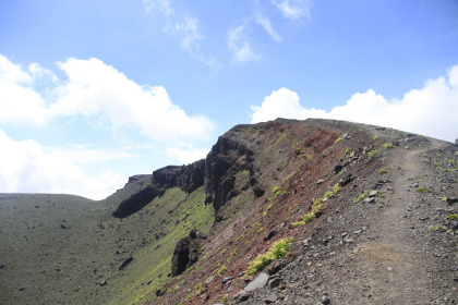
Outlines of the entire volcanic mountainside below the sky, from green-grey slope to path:
M 1 194 L 0 301 L 455 304 L 457 151 L 278 119 L 103 202 Z

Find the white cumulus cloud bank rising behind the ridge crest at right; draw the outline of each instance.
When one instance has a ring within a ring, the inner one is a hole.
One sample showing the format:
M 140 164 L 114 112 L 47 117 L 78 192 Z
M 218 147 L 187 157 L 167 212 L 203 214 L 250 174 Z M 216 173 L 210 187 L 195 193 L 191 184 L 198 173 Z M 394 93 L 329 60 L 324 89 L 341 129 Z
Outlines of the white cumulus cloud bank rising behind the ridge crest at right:
M 453 142 L 457 137 L 458 65 L 447 76 L 425 82 L 423 88 L 412 89 L 401 99 L 387 100 L 373 89 L 354 94 L 342 106 L 329 112 L 306 108 L 297 93 L 287 88 L 273 91 L 261 106 L 252 106 L 252 123 L 289 118 L 338 119 L 415 132 Z

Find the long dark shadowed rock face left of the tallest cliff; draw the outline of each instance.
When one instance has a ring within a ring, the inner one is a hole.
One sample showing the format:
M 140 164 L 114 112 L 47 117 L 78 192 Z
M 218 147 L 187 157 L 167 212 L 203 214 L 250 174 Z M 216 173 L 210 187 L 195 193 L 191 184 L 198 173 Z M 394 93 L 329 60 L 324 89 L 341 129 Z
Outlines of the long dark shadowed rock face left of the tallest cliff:
M 117 218 L 125 218 L 137 212 L 157 196 L 162 196 L 167 188 L 180 187 L 191 193 L 204 185 L 205 160 L 200 160 L 189 166 L 169 166 L 153 172 L 149 184 L 137 193 L 121 202 L 112 213 Z

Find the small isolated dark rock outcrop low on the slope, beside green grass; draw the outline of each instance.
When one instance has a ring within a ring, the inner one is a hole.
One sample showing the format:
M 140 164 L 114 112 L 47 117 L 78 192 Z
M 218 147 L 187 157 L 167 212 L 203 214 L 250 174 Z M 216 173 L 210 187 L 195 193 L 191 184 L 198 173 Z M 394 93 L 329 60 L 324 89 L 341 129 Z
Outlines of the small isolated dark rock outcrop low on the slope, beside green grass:
M 171 261 L 172 277 L 180 276 L 197 261 L 201 242 L 205 239 L 205 234 L 193 229 L 188 236 L 178 242 Z

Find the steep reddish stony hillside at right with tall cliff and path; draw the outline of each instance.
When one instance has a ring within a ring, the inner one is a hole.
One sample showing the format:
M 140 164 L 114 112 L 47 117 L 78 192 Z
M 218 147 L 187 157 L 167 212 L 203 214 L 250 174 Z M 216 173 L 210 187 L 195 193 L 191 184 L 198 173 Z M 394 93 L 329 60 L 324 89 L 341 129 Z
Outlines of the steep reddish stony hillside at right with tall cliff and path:
M 456 151 L 337 121 L 236 126 L 206 159 L 200 260 L 146 304 L 454 304 Z

